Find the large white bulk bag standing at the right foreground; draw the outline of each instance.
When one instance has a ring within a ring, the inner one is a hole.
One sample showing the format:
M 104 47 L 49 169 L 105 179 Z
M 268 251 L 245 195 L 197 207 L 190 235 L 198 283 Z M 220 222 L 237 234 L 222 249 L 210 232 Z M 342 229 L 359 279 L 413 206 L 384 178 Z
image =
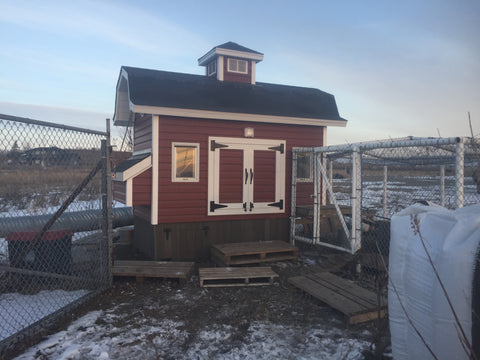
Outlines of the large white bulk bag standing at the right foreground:
M 458 210 L 416 204 L 394 215 L 391 222 L 388 310 L 393 358 L 432 358 L 409 324 L 400 300 L 439 359 L 468 359 L 450 306 L 416 234 L 414 217 L 472 343 L 472 281 L 480 243 L 480 204 Z

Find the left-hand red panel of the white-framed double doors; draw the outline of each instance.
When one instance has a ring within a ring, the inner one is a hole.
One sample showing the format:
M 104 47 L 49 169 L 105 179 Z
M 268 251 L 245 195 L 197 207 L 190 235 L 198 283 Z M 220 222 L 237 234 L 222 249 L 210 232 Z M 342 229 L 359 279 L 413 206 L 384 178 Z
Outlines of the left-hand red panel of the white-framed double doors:
M 243 202 L 243 151 L 222 149 L 220 152 L 220 203 Z

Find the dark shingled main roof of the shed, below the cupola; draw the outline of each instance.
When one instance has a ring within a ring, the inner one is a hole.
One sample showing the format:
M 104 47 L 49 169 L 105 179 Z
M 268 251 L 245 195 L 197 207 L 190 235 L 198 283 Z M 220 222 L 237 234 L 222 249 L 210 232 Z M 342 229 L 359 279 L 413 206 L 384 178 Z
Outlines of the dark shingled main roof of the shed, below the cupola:
M 228 44 L 228 43 L 227 43 Z M 340 120 L 333 95 L 314 88 L 255 85 L 124 66 L 135 105 Z

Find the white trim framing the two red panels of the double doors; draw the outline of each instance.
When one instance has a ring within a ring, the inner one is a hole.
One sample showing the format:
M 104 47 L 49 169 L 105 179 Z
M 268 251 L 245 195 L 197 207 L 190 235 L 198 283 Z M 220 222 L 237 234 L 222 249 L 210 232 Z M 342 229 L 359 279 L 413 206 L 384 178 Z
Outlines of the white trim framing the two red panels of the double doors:
M 254 207 L 248 211 L 243 208 L 243 203 L 253 203 L 253 189 L 255 186 L 255 177 L 250 184 L 243 186 L 243 202 L 242 203 L 228 203 L 224 208 L 210 211 L 210 202 L 219 204 L 220 200 L 220 151 L 222 148 L 215 151 L 208 151 L 208 215 L 252 215 L 252 214 L 278 214 L 285 212 L 285 140 L 267 140 L 267 139 L 245 139 L 245 138 L 223 138 L 223 137 L 209 137 L 208 143 L 212 140 L 216 143 L 228 145 L 231 150 L 243 150 L 243 166 L 245 168 L 253 169 L 254 152 L 255 150 L 270 150 L 275 151 L 275 201 L 283 200 L 283 208 L 270 206 L 270 202 L 256 202 Z M 281 151 L 272 150 L 272 148 L 283 145 L 283 153 Z M 255 169 L 253 169 L 255 170 Z M 222 204 L 220 204 L 222 205 Z

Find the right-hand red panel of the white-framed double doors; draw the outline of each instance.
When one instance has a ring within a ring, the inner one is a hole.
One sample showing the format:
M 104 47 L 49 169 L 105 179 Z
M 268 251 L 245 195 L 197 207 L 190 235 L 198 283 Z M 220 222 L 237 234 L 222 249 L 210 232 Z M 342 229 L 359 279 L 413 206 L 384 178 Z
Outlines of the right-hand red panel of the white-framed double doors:
M 275 155 L 274 151 L 254 152 L 254 202 L 275 202 Z

